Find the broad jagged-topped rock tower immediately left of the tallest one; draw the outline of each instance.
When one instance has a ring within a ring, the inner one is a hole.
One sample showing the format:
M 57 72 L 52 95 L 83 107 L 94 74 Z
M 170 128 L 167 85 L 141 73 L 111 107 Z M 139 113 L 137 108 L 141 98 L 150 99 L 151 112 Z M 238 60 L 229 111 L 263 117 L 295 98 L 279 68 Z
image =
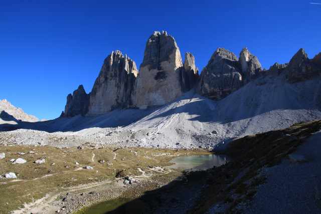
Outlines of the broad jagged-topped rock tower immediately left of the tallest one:
M 132 92 L 138 71 L 136 64 L 120 51 L 104 61 L 90 94 L 89 115 L 132 106 Z

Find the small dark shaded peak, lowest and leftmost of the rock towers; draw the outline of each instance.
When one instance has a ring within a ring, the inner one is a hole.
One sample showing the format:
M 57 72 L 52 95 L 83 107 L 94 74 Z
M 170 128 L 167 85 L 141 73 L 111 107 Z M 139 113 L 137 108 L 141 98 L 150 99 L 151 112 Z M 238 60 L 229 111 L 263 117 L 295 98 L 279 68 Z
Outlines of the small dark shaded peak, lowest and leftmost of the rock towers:
M 86 93 L 84 87 L 80 85 L 73 94 L 68 94 L 64 117 L 73 117 L 76 115 L 85 115 L 88 112 L 89 94 Z M 61 116 L 62 116 L 61 115 Z

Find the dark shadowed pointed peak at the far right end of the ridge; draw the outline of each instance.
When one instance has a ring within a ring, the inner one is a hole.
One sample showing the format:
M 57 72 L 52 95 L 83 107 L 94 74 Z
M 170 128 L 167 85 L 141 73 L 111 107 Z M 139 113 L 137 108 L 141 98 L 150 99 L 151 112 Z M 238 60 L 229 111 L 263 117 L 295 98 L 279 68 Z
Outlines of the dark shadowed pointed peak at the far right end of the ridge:
M 321 74 L 320 54 L 309 60 L 305 51 L 301 48 L 290 60 L 286 71 L 290 83 L 311 79 Z

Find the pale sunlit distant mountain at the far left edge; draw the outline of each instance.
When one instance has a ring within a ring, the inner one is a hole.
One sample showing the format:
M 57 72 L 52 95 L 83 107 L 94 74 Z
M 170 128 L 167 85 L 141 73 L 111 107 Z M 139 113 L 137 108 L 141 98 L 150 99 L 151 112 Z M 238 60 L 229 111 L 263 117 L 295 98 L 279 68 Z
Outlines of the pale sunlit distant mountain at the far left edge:
M 37 122 L 39 119 L 34 115 L 27 114 L 23 109 L 12 105 L 8 100 L 0 100 L 0 120 L 15 121 L 21 120 L 26 122 Z

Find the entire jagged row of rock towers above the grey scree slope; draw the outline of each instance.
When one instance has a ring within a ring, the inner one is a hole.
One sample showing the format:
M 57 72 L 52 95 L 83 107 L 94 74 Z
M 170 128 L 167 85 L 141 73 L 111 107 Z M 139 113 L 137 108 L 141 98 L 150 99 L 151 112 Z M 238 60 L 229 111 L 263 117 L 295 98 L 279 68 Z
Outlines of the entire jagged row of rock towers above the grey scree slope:
M 309 59 L 303 49 L 289 63 L 275 63 L 263 69 L 247 48 L 237 57 L 217 48 L 199 76 L 195 57 L 185 54 L 166 31 L 154 32 L 147 40 L 139 70 L 135 62 L 120 51 L 105 60 L 90 93 L 80 85 L 67 96 L 63 117 L 94 116 L 115 109 L 146 109 L 169 104 L 195 89 L 204 97 L 219 101 L 264 77 L 282 76 L 284 83 L 295 84 L 321 74 L 321 53 Z M 278 79 L 278 78 L 275 78 Z

